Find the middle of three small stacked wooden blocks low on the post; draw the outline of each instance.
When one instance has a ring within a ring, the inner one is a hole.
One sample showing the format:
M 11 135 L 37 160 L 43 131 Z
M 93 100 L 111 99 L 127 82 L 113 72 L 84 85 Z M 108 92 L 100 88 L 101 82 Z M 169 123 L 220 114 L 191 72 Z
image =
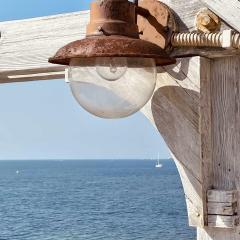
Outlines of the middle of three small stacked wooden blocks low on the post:
M 237 202 L 235 203 L 208 203 L 208 214 L 233 216 L 237 213 Z

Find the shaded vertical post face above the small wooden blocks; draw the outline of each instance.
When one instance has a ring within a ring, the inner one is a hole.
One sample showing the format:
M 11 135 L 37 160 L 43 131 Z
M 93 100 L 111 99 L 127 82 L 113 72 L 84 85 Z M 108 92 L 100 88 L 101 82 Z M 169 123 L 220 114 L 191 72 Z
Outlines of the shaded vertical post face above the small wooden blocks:
M 240 57 L 211 64 L 213 189 L 236 189 Z M 214 123 L 214 124 L 213 124 Z

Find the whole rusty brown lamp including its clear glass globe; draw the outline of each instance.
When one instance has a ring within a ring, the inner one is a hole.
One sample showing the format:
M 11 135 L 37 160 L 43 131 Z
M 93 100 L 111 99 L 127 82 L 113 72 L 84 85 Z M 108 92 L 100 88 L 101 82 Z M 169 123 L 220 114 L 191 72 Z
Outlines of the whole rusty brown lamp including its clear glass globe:
M 175 60 L 140 40 L 135 4 L 101 0 L 91 4 L 86 38 L 64 46 L 49 62 L 69 66 L 72 93 L 84 109 L 101 118 L 122 118 L 151 98 L 156 66 Z

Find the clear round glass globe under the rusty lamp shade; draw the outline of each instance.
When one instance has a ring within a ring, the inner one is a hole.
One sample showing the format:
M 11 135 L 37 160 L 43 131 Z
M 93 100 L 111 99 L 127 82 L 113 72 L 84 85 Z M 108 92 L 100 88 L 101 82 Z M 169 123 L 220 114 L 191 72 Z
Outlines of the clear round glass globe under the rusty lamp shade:
M 78 103 L 101 118 L 123 118 L 139 111 L 156 84 L 151 58 L 74 58 L 68 73 Z

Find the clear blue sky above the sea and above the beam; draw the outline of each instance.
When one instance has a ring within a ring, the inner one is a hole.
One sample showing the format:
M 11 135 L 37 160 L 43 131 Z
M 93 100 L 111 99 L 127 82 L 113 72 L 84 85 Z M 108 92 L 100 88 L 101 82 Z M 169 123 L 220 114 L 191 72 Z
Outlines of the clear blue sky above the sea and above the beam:
M 89 0 L 2 1 L 0 20 L 89 9 Z M 1 47 L 1 46 L 0 46 Z M 0 159 L 148 159 L 168 149 L 137 113 L 121 120 L 91 116 L 63 80 L 0 85 Z

